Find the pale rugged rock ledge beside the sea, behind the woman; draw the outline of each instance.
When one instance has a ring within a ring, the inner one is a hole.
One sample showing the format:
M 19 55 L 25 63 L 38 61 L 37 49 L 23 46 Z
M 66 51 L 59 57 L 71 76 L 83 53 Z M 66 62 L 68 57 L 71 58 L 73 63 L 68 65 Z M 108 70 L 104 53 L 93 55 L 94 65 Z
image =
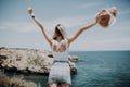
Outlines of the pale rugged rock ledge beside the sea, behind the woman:
M 0 48 L 0 69 L 26 74 L 49 74 L 53 55 L 49 51 L 22 48 Z M 69 62 L 72 74 L 77 73 L 75 63 Z

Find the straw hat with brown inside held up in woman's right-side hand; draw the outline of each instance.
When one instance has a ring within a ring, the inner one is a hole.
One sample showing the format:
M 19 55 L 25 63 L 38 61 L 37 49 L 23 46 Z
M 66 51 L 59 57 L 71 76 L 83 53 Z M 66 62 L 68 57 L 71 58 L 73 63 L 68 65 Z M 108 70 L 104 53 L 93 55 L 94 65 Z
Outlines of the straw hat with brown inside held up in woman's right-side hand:
M 96 17 L 100 18 L 99 24 L 102 27 L 108 27 L 115 24 L 116 15 L 117 15 L 117 9 L 113 7 L 101 10 L 101 12 L 96 15 Z

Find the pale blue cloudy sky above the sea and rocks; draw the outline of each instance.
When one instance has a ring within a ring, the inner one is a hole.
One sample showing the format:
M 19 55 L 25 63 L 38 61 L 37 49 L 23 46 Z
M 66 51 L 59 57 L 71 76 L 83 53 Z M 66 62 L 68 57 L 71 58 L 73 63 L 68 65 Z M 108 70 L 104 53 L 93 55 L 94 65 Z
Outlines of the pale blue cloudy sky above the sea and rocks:
M 101 9 L 117 8 L 117 21 L 107 28 L 99 24 L 80 35 L 69 47 L 72 51 L 130 50 L 129 0 L 0 0 L 0 47 L 51 50 L 40 28 L 28 15 L 35 16 L 53 36 L 56 24 L 73 36 L 92 23 Z

